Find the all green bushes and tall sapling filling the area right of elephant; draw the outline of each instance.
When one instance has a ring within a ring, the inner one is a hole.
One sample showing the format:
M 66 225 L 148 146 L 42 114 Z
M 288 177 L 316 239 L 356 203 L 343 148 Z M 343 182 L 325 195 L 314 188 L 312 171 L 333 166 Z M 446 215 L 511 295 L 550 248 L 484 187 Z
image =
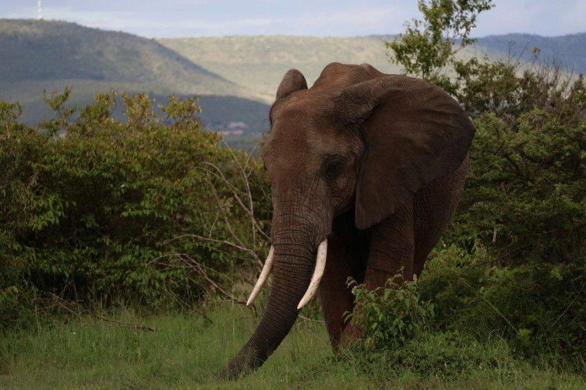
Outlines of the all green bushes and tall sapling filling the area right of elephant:
M 583 367 L 586 344 L 586 83 L 558 61 L 454 57 L 454 14 L 423 8 L 395 61 L 438 83 L 474 119 L 467 185 L 421 278 L 436 325 L 483 339 L 498 332 L 523 356 Z M 474 18 L 463 19 L 472 27 Z M 461 25 L 462 26 L 462 25 Z M 461 45 L 467 43 L 469 30 Z M 429 50 L 436 37 L 438 48 Z M 409 45 L 406 45 L 409 43 Z M 525 48 L 526 49 L 526 48 Z M 525 51 L 524 49 L 524 51 Z M 403 50 L 403 51 L 401 51 Z M 512 49 L 510 49 L 512 50 Z M 409 54 L 408 56 L 406 54 Z M 411 62 L 413 60 L 413 63 Z

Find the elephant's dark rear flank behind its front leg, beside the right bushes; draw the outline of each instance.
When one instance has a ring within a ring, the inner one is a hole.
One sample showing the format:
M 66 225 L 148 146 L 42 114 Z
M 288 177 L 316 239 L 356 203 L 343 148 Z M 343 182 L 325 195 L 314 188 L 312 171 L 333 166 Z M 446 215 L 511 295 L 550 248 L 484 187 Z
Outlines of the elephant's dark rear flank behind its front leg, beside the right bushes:
M 468 157 L 451 174 L 420 189 L 414 200 L 415 254 L 414 274 L 421 275 L 432 252 L 456 211 L 466 181 Z

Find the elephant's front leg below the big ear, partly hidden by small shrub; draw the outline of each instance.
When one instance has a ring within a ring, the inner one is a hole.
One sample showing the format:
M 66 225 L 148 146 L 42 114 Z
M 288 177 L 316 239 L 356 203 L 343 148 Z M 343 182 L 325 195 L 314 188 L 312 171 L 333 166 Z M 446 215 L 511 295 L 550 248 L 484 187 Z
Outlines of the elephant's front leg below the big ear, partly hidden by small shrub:
M 396 212 L 370 229 L 370 245 L 364 283 L 367 289 L 383 287 L 387 280 L 401 272 L 403 278 L 413 277 L 414 229 L 413 201 L 407 201 Z M 398 281 L 400 282 L 400 281 Z M 355 325 L 345 327 L 342 345 L 359 336 Z

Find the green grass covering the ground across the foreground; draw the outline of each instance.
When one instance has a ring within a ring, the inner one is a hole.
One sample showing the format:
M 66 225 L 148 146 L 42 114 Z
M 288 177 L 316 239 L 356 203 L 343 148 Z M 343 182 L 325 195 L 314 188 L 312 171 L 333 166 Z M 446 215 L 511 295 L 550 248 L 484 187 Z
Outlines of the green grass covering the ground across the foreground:
M 585 378 L 434 333 L 390 356 L 334 356 L 320 322 L 300 320 L 261 369 L 238 382 L 216 374 L 254 331 L 250 309 L 217 303 L 196 313 L 141 314 L 115 322 L 65 318 L 0 340 L 0 389 L 583 389 Z M 121 326 L 139 324 L 144 327 Z M 148 331 L 145 327 L 154 329 Z

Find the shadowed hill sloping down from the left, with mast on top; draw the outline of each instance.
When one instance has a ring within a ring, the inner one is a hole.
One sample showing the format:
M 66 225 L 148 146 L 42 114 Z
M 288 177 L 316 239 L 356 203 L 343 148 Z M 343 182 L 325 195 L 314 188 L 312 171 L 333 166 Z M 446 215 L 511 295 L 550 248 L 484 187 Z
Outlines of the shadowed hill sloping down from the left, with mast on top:
M 181 94 L 246 94 L 160 43 L 124 32 L 4 19 L 0 42 L 0 80 L 92 80 Z

